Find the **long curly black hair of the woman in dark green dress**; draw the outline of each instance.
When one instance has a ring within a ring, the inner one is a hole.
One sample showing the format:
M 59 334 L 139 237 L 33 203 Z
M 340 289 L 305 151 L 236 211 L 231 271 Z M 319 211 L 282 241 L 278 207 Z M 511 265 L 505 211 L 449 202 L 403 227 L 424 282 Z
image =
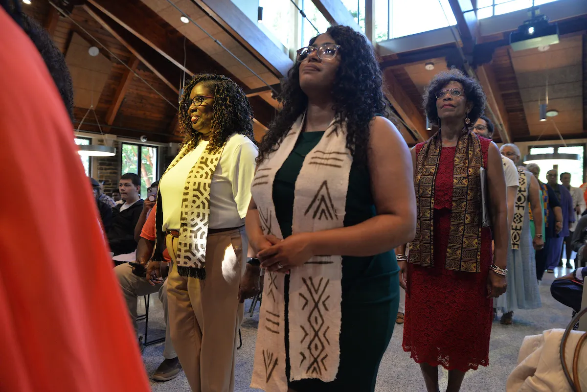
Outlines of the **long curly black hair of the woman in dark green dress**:
M 369 123 L 376 114 L 386 113 L 382 73 L 365 36 L 349 26 L 330 26 L 326 34 L 340 45 L 340 65 L 332 86 L 333 109 L 339 121 L 346 120 L 346 147 L 353 159 L 363 164 L 367 161 Z M 318 36 L 310 40 L 310 45 L 316 38 Z M 282 80 L 278 100 L 283 109 L 269 125 L 261 141 L 258 163 L 279 148 L 295 120 L 308 106 L 308 97 L 299 86 L 299 62 L 289 70 L 288 77 Z

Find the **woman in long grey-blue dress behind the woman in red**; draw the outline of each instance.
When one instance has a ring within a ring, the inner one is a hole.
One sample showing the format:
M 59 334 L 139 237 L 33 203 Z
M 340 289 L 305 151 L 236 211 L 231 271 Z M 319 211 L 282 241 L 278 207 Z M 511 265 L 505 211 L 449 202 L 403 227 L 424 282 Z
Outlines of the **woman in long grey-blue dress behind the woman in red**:
M 517 165 L 520 159 L 515 144 L 504 144 L 501 154 Z M 518 167 L 519 187 L 515 200 L 514 219 L 508 247 L 508 289 L 497 299 L 496 307 L 504 313 L 501 323 L 510 325 L 515 309 L 537 309 L 542 306 L 536 280 L 535 250 L 542 249 L 542 214 L 538 180 L 522 167 Z M 535 223 L 535 235 L 530 230 L 530 210 Z

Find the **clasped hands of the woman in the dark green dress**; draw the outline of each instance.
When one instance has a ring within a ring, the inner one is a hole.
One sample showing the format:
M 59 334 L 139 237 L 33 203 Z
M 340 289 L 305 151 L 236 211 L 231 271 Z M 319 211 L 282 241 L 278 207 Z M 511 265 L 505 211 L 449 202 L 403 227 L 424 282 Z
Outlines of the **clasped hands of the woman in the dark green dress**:
M 288 273 L 314 256 L 312 245 L 311 233 L 294 234 L 286 239 L 264 235 L 257 244 L 257 258 L 261 268 L 267 271 Z

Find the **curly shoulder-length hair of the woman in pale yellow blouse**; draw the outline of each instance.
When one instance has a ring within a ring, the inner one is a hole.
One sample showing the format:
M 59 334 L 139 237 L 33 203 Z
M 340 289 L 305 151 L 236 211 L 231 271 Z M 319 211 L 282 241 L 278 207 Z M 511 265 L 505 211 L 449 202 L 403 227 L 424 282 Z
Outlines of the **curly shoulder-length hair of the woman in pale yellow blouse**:
M 184 87 L 183 95 L 180 100 L 179 122 L 184 131 L 184 144 L 194 148 L 200 143 L 201 133 L 191 127 L 191 119 L 188 114 L 190 108 L 191 90 L 198 83 L 203 82 L 212 95 L 214 95 L 214 114 L 212 115 L 212 136 L 208 149 L 216 151 L 224 146 L 228 137 L 233 133 L 247 136 L 253 143 L 253 111 L 251 104 L 237 83 L 224 75 L 215 73 L 200 73 L 194 75 Z

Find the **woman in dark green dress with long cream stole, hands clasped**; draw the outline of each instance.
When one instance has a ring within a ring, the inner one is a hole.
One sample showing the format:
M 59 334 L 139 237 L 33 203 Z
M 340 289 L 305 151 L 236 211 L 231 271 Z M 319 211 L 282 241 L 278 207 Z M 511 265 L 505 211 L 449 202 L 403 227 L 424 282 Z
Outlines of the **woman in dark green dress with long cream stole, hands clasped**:
M 247 214 L 266 271 L 252 386 L 373 391 L 399 303 L 392 249 L 414 235 L 409 150 L 348 26 L 298 50 L 279 98 Z

